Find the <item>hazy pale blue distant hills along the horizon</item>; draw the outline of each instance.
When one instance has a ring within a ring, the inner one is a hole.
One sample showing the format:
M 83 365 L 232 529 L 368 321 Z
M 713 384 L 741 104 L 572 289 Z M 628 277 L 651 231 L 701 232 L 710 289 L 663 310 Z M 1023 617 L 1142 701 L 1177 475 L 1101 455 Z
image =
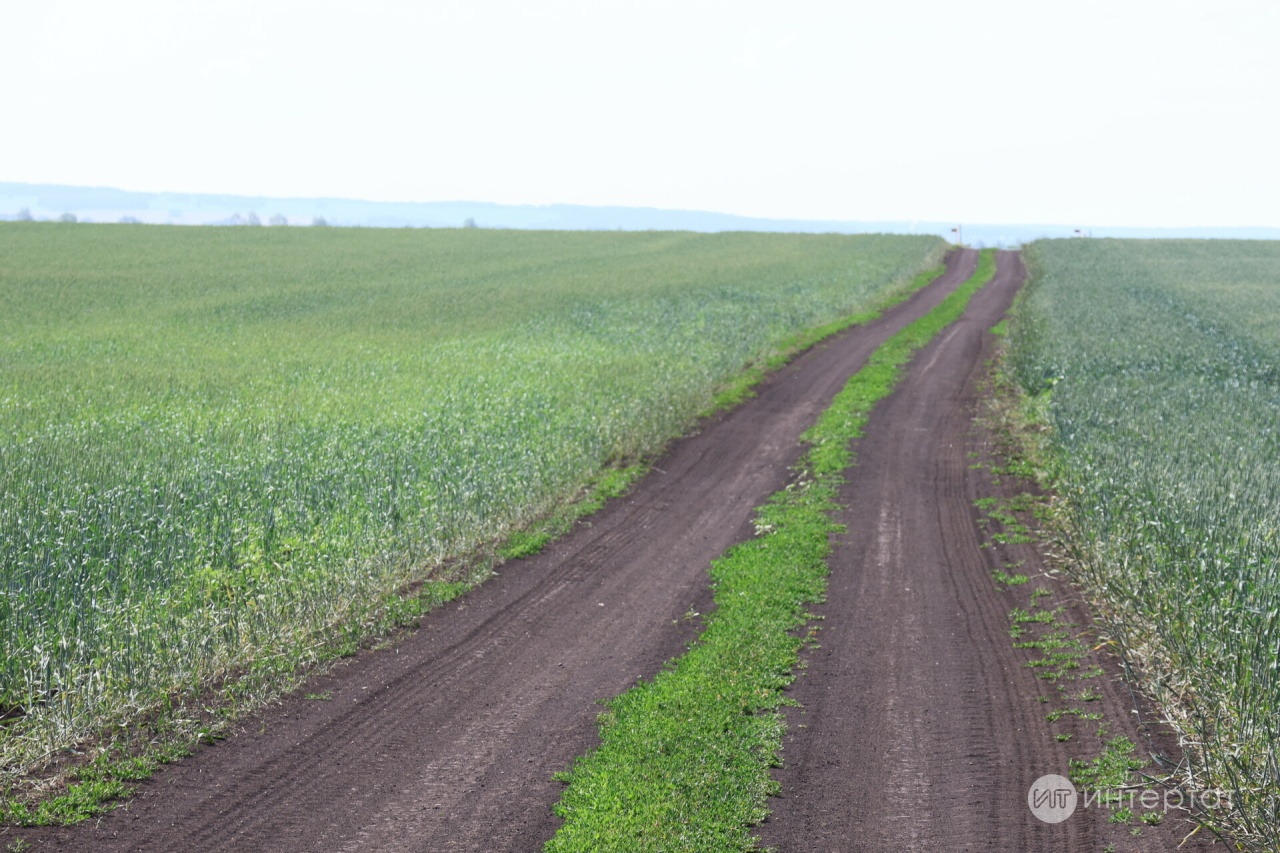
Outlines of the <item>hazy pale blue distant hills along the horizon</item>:
M 353 199 L 268 199 L 182 192 L 131 192 L 109 187 L 65 187 L 0 182 L 0 219 L 33 219 L 73 214 L 81 222 L 137 220 L 152 224 L 238 225 L 253 214 L 264 224 L 273 216 L 289 225 L 374 228 L 529 228 L 566 231 L 776 231 L 813 233 L 918 233 L 952 237 L 955 223 L 833 222 L 760 219 L 700 210 L 659 207 L 593 207 L 586 205 L 497 205 L 484 201 L 358 201 Z M 965 224 L 972 245 L 1012 246 L 1038 237 L 1071 237 L 1079 225 Z M 1093 237 L 1201 237 L 1280 240 L 1280 228 L 1087 228 Z

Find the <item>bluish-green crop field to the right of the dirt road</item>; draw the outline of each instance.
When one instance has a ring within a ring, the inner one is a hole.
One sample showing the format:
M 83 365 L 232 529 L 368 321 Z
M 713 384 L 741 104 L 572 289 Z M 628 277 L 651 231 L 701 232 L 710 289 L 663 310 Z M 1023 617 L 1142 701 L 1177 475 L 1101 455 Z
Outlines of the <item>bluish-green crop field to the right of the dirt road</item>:
M 1076 579 L 1222 792 L 1280 849 L 1280 245 L 1043 241 L 1010 321 Z M 1029 433 L 1030 434 L 1030 433 Z

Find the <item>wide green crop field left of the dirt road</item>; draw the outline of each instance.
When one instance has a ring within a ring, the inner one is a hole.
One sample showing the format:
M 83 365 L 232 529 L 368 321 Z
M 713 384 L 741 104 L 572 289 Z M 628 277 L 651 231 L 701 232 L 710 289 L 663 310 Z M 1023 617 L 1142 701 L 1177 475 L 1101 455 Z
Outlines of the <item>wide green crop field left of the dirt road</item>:
M 943 248 L 0 224 L 0 780 L 458 594 Z

